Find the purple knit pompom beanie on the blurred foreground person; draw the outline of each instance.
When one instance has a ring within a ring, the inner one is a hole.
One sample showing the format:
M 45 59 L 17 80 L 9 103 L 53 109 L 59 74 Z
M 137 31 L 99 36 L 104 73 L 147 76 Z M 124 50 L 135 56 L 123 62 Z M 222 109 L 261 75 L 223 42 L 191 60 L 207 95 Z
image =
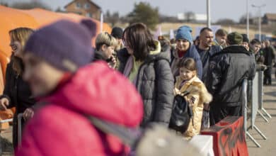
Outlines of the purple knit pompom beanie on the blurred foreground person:
M 31 52 L 64 72 L 75 72 L 91 61 L 94 35 L 96 23 L 91 20 L 81 23 L 61 20 L 30 35 L 24 52 Z

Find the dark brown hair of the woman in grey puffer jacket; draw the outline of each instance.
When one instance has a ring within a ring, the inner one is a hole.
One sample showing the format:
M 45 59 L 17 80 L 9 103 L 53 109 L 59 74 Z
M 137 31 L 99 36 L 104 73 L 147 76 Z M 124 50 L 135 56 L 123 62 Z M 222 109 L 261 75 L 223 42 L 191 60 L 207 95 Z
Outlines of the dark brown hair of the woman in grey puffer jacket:
M 122 40 L 132 48 L 133 55 L 137 60 L 145 60 L 149 52 L 156 49 L 149 28 L 143 23 L 133 23 L 131 26 L 125 28 L 122 35 Z

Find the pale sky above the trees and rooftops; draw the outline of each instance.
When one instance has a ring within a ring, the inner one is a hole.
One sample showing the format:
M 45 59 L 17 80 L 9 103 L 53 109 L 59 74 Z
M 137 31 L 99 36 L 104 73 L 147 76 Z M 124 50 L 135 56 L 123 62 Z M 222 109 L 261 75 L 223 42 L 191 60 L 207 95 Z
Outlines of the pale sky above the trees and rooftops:
M 30 1 L 30 0 L 0 0 L 2 2 L 13 3 L 15 1 Z M 34 1 L 34 0 L 33 0 Z M 36 0 L 50 6 L 53 10 L 60 6 L 63 7 L 71 0 Z M 135 0 L 92 0 L 103 11 L 110 10 L 119 11 L 120 15 L 125 15 L 132 11 Z M 176 16 L 177 13 L 193 11 L 195 13 L 206 13 L 206 0 L 144 0 L 149 2 L 151 6 L 158 7 L 159 12 L 164 15 Z M 276 13 L 276 0 L 249 0 L 250 5 L 266 6 L 262 9 L 262 13 Z M 258 15 L 258 9 L 250 6 L 249 11 L 253 16 Z M 246 13 L 246 0 L 211 0 L 211 16 L 212 21 L 217 21 L 219 18 L 231 18 L 235 21 Z

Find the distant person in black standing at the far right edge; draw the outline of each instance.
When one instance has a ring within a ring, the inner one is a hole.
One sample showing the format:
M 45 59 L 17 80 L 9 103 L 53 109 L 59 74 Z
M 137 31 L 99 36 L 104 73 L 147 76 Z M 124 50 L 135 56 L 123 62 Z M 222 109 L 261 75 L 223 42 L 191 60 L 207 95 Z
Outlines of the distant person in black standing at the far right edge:
M 272 63 L 275 60 L 274 49 L 270 45 L 269 40 L 265 40 L 265 48 L 263 49 L 263 54 L 265 57 L 264 64 L 266 65 L 267 69 L 265 69 L 265 77 L 263 78 L 263 84 L 271 85 L 271 72 L 272 72 Z

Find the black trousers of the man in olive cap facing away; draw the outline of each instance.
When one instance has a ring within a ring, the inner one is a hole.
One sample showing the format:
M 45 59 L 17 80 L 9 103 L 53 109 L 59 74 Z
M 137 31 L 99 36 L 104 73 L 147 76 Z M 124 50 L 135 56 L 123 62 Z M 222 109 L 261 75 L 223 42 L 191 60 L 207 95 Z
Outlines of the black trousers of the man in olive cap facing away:
M 242 116 L 242 106 L 210 106 L 210 126 L 222 121 L 226 116 Z

